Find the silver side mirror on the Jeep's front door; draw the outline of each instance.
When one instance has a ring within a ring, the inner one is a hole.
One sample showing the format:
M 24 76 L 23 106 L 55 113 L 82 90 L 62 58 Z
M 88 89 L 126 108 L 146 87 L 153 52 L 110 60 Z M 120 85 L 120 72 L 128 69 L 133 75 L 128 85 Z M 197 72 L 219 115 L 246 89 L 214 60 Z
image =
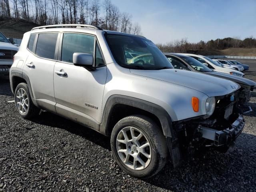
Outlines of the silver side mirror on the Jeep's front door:
M 74 53 L 73 63 L 75 66 L 81 66 L 86 69 L 93 68 L 94 57 L 88 53 Z

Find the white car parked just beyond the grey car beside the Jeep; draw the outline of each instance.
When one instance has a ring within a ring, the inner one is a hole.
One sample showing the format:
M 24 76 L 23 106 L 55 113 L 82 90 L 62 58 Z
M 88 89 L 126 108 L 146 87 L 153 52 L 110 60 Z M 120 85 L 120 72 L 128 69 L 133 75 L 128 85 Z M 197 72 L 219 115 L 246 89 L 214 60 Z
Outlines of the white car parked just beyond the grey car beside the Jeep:
M 235 75 L 235 76 L 239 76 L 239 77 L 244 77 L 244 74 L 242 72 L 234 70 L 234 69 L 230 69 L 230 68 L 225 68 L 218 62 L 216 62 L 206 56 L 196 55 L 196 54 L 188 54 L 188 53 L 184 53 L 184 55 L 188 55 L 190 57 L 195 58 L 196 60 L 200 61 L 201 63 L 208 66 L 209 68 L 211 68 L 214 71 L 227 73 L 227 74 L 231 74 L 231 75 Z

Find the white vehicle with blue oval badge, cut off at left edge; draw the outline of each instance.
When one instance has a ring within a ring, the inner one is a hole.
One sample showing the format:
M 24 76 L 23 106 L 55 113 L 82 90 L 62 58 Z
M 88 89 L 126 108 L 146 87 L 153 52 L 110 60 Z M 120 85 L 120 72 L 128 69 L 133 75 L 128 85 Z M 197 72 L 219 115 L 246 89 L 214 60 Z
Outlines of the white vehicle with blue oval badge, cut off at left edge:
M 13 63 L 13 56 L 18 52 L 19 48 L 13 45 L 0 32 L 0 76 L 9 76 L 10 68 Z

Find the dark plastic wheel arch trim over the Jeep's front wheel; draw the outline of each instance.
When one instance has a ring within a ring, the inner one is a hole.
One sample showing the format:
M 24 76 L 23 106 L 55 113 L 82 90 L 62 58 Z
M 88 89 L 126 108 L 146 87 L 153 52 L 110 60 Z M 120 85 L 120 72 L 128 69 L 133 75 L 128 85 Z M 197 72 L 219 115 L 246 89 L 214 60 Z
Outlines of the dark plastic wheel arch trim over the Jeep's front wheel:
M 114 124 L 125 117 L 120 112 L 124 112 L 125 116 L 132 114 L 149 116 L 160 126 L 164 136 L 173 136 L 172 121 L 164 108 L 145 100 L 122 95 L 112 95 L 108 98 L 102 114 L 100 132 L 110 135 Z

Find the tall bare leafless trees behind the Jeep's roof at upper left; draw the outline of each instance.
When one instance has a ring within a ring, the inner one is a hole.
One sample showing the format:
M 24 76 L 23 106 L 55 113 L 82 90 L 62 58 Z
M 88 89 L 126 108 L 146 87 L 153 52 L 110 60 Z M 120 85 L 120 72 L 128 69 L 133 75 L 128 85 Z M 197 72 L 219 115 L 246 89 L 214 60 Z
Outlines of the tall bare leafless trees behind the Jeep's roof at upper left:
M 132 23 L 132 15 L 121 12 L 111 0 L 0 0 L 0 16 L 39 25 L 91 24 L 106 30 L 141 33 L 140 25 Z

